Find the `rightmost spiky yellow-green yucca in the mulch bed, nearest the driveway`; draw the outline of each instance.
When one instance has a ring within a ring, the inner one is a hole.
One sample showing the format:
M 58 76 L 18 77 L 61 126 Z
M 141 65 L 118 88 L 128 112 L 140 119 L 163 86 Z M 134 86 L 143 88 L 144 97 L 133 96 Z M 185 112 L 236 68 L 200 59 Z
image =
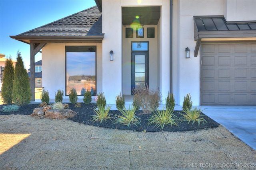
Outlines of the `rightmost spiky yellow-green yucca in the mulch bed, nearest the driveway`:
M 185 114 L 180 113 L 183 116 L 182 121 L 188 121 L 188 124 L 190 121 L 192 121 L 192 125 L 197 121 L 198 126 L 200 125 L 200 122 L 204 124 L 204 122 L 208 123 L 201 115 L 201 108 L 197 109 L 196 107 L 190 111 L 188 107 L 184 110 Z

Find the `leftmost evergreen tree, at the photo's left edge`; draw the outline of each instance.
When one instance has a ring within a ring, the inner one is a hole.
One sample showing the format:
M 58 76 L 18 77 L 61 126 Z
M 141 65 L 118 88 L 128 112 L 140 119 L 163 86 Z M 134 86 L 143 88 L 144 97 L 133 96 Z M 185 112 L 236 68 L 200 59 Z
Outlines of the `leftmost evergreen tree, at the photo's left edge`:
M 5 104 L 12 103 L 12 88 L 13 88 L 13 78 L 14 78 L 14 66 L 12 63 L 12 57 L 9 56 L 5 61 L 4 73 L 2 78 L 2 99 Z

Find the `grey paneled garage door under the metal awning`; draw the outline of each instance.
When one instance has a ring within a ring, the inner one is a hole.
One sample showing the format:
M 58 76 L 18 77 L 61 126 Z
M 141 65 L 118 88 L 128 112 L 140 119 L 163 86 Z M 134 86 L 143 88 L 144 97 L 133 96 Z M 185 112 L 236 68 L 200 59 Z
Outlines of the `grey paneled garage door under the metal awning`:
M 202 43 L 201 105 L 256 105 L 256 42 Z

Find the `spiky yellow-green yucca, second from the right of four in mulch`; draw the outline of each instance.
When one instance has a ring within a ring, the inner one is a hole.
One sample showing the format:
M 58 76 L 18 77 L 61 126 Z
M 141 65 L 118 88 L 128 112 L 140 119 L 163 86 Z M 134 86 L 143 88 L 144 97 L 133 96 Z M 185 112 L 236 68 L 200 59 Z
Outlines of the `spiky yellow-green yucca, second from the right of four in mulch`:
M 156 124 L 155 127 L 160 127 L 162 130 L 164 128 L 164 125 L 176 125 L 178 126 L 178 121 L 176 119 L 176 116 L 173 114 L 174 107 L 168 107 L 166 110 L 155 110 L 153 111 L 153 115 L 148 120 L 148 125 Z

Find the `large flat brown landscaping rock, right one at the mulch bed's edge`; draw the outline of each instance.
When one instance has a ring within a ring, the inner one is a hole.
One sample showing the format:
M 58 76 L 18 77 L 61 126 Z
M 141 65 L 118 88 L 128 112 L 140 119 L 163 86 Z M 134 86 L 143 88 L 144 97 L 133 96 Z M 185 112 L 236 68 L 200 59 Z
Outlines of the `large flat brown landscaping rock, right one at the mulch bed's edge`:
M 44 117 L 50 117 L 52 119 L 64 119 L 74 117 L 77 113 L 70 109 L 49 109 L 45 111 Z

